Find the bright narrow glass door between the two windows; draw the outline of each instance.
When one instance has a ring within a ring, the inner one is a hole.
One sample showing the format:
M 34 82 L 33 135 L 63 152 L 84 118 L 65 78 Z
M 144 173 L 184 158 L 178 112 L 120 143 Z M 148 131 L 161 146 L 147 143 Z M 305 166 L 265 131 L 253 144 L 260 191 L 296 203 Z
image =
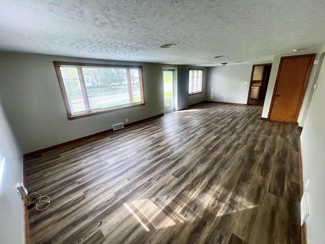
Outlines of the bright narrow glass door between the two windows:
M 163 69 L 164 75 L 164 113 L 175 110 L 175 77 L 176 69 Z

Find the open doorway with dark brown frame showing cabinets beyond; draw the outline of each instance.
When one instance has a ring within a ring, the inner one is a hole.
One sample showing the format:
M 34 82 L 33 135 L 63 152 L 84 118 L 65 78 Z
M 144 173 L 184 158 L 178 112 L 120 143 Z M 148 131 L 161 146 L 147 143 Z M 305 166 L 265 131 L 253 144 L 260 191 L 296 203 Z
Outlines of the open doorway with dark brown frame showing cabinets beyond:
M 263 107 L 271 68 L 272 64 L 253 65 L 247 105 Z

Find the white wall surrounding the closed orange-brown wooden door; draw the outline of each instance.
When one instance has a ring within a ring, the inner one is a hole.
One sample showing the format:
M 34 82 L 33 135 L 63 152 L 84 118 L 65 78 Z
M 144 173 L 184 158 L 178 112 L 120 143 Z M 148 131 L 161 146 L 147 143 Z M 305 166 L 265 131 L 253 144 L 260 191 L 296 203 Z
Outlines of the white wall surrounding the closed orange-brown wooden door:
M 268 88 L 267 88 L 267 93 L 265 96 L 265 101 L 264 101 L 264 106 L 263 106 L 263 111 L 262 111 L 262 117 L 263 118 L 267 118 L 269 115 L 269 111 L 270 111 L 270 106 L 271 106 L 271 100 L 272 100 L 272 95 L 273 95 L 273 90 L 274 90 L 274 85 L 275 85 L 275 80 L 278 74 L 278 69 L 279 69 L 279 65 L 280 65 L 280 60 L 281 57 L 284 56 L 293 56 L 293 55 L 303 55 L 303 54 L 309 54 L 312 53 L 310 51 L 307 50 L 301 50 L 298 53 L 285 53 L 285 54 L 277 54 L 274 55 L 273 58 L 273 63 L 272 63 L 272 69 L 271 69 L 271 74 L 270 74 L 270 79 L 269 79 L 269 84 L 268 84 Z M 315 60 L 319 58 L 319 55 L 317 54 L 315 57 Z M 312 67 L 312 70 L 310 72 L 309 75 L 309 81 L 312 81 L 315 75 L 315 71 L 316 71 L 316 65 L 314 65 Z M 301 105 L 301 109 L 298 115 L 298 119 L 297 122 L 301 125 L 301 121 L 302 121 L 302 117 L 303 117 L 303 113 L 305 111 L 305 109 L 308 109 L 308 107 L 306 107 L 306 105 L 308 104 L 308 94 L 310 92 L 310 89 L 312 88 L 312 82 L 308 82 L 307 84 L 307 88 L 306 88 L 306 96 L 304 97 L 304 100 L 302 102 Z M 302 126 L 302 125 L 301 125 Z

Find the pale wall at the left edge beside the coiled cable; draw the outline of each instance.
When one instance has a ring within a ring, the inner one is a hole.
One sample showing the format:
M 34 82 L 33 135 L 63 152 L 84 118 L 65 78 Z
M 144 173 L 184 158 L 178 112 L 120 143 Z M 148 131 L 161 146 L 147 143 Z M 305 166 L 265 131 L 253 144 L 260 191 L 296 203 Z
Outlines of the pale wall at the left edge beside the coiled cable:
M 18 197 L 16 184 L 22 182 L 22 154 L 0 103 L 0 243 L 24 243 L 23 202 Z

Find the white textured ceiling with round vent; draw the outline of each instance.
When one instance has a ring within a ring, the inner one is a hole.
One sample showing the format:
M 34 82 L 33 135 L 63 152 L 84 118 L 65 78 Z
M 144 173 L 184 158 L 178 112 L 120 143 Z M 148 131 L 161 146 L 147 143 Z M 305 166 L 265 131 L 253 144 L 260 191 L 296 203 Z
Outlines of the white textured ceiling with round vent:
M 324 0 L 0 0 L 0 50 L 198 66 L 257 63 L 322 46 L 324 9 Z M 164 43 L 176 47 L 159 48 Z

